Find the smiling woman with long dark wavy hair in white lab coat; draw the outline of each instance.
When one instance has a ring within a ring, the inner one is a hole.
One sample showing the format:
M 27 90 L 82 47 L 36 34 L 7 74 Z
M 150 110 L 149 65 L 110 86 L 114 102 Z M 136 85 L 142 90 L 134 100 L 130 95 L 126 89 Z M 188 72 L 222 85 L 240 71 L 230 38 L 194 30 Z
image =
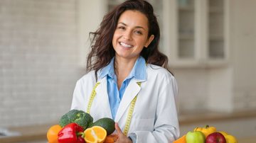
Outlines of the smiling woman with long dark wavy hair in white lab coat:
M 179 136 L 176 80 L 158 50 L 151 4 L 125 1 L 91 34 L 89 72 L 75 86 L 71 109 L 85 110 L 94 120 L 115 120 L 116 142 L 174 141 Z

